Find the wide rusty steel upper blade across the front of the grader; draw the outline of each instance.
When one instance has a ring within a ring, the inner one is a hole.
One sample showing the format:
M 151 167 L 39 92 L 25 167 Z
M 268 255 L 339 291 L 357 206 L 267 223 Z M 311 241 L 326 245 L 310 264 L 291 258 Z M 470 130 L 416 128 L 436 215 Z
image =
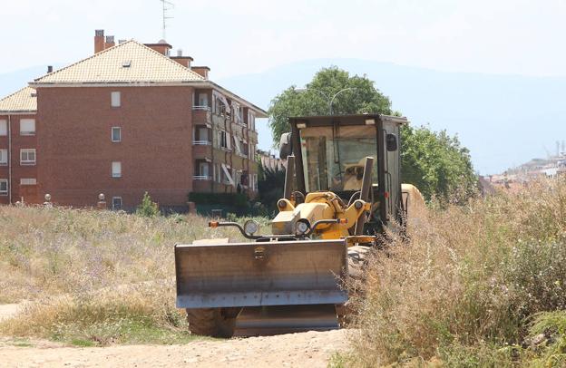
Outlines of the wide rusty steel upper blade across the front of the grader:
M 179 308 L 338 305 L 344 240 L 175 246 Z

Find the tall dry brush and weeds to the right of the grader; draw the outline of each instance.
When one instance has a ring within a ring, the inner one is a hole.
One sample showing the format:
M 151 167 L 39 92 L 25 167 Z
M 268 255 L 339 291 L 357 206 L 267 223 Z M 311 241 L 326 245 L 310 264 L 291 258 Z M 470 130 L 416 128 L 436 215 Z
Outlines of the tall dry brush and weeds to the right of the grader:
M 365 292 L 337 362 L 566 367 L 566 180 L 433 210 Z

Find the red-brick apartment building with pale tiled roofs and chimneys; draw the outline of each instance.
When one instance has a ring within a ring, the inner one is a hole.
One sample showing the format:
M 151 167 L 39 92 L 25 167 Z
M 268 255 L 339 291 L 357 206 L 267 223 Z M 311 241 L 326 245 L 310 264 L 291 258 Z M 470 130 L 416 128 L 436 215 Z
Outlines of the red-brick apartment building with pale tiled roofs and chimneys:
M 192 192 L 257 191 L 255 119 L 266 112 L 171 45 L 96 31 L 94 54 L 0 100 L 0 203 L 134 208 L 145 191 L 182 208 Z

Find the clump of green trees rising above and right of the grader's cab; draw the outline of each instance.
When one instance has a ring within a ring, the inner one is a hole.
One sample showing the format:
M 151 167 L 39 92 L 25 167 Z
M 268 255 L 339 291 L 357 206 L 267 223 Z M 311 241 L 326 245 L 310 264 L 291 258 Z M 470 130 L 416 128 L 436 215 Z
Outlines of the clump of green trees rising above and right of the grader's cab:
M 274 144 L 278 144 L 282 133 L 290 131 L 289 117 L 328 115 L 331 110 L 334 114 L 398 114 L 391 110 L 389 98 L 365 75 L 351 76 L 337 67 L 323 68 L 305 89 L 290 86 L 271 101 L 268 114 Z M 403 182 L 414 184 L 426 199 L 464 199 L 476 188 L 469 150 L 446 131 L 404 126 L 401 159 Z

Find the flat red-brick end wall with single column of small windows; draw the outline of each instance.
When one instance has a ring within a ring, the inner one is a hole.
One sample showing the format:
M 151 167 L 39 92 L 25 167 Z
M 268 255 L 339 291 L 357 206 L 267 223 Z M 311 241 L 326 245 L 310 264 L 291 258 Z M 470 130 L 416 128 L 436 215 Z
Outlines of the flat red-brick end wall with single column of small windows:
M 121 92 L 121 106 L 111 106 Z M 161 206 L 183 206 L 192 190 L 191 87 L 39 88 L 37 169 L 53 202 L 94 206 L 99 193 L 134 208 L 145 191 Z M 122 141 L 112 142 L 112 127 Z M 112 178 L 112 161 L 122 177 Z

